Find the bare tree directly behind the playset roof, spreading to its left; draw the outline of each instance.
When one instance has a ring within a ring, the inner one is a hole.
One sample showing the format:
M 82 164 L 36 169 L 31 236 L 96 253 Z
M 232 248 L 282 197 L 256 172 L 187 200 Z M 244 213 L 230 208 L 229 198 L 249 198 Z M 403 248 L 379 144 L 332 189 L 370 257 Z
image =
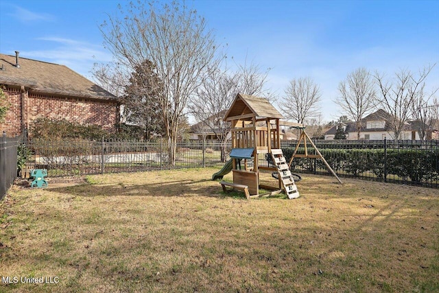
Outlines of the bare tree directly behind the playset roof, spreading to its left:
M 264 89 L 268 72 L 261 71 L 254 65 L 238 65 L 237 71 L 211 69 L 209 77 L 204 80 L 196 97 L 189 103 L 189 111 L 200 122 L 200 131 L 213 132 L 222 143 L 222 161 L 226 159 L 227 135 L 230 122 L 223 121 L 226 110 L 237 93 L 246 95 L 268 95 Z

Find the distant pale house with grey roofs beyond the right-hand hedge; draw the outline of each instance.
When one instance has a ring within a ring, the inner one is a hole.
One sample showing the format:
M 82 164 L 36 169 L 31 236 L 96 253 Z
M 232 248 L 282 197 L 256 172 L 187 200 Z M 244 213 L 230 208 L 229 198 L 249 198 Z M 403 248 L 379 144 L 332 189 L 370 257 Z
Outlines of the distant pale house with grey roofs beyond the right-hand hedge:
M 385 110 L 377 110 L 364 119 L 361 119 L 361 128 L 359 133 L 359 139 L 364 140 L 382 140 L 382 139 L 394 139 L 394 132 L 388 124 L 390 114 Z M 421 125 L 422 124 L 422 125 Z M 338 124 L 333 126 L 327 132 L 324 132 L 324 139 L 333 140 L 337 127 L 341 126 L 346 134 L 346 139 L 357 139 L 357 125 L 355 122 L 348 122 L 345 124 Z M 418 130 L 420 127 L 427 129 L 427 140 L 437 139 L 437 131 L 434 128 L 426 126 L 420 121 L 408 121 L 400 134 L 399 139 L 403 140 L 419 140 Z

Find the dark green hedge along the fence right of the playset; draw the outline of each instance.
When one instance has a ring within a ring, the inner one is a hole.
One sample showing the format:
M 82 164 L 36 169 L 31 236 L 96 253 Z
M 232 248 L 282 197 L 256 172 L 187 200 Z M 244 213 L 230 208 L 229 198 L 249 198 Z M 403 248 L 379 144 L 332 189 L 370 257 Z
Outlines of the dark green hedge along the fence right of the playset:
M 293 152 L 292 148 L 283 149 L 287 161 L 291 159 Z M 382 149 L 324 149 L 320 152 L 335 172 L 354 177 L 371 172 L 377 179 L 383 180 L 387 173 L 413 183 L 429 183 L 436 181 L 439 174 L 439 150 L 390 149 L 387 150 L 387 156 Z M 305 149 L 299 148 L 297 153 L 304 154 Z M 313 148 L 308 148 L 308 154 L 314 154 Z M 292 169 L 316 172 L 327 167 L 322 160 L 296 158 Z

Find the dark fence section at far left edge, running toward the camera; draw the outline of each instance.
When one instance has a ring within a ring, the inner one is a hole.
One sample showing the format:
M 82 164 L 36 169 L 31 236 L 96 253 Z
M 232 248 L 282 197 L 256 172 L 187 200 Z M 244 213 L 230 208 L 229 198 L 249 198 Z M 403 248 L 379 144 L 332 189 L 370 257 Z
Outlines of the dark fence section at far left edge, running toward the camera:
M 17 149 L 23 137 L 6 137 L 4 132 L 0 137 L 0 200 L 16 178 Z

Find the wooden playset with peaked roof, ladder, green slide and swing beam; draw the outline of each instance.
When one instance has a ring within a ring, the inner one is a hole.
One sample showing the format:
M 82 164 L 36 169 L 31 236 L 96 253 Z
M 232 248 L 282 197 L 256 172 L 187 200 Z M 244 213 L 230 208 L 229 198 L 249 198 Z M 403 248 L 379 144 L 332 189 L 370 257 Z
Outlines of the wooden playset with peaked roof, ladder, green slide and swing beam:
M 305 136 L 301 136 L 300 139 L 303 139 L 305 143 L 305 151 L 307 134 L 303 134 L 305 131 L 302 124 L 281 121 L 281 119 L 283 119 L 281 113 L 267 99 L 237 94 L 224 117 L 224 121 L 230 121 L 231 123 L 232 151 L 230 152 L 230 159 L 233 161 L 233 183 L 222 181 L 221 185 L 224 191 L 227 190 L 226 186 L 233 187 L 233 189 L 244 191 L 247 198 L 255 198 L 272 196 L 285 190 L 285 194 L 289 198 L 299 197 L 294 178 L 289 171 L 289 166 L 294 156 L 292 156 L 289 164 L 287 164 L 281 150 L 281 126 L 302 128 L 302 135 Z M 298 146 L 299 143 L 294 152 L 295 155 Z M 313 146 L 315 148 L 315 145 Z M 315 149 L 317 150 L 317 148 Z M 261 154 L 263 156 L 267 154 L 272 156 L 274 167 L 260 166 L 259 156 Z M 307 154 L 307 156 L 313 155 Z M 320 152 L 318 152 L 318 157 L 323 159 Z M 243 160 L 244 163 L 242 162 Z M 324 162 L 326 163 L 326 161 Z M 277 172 L 278 186 L 273 187 L 259 184 L 259 172 L 261 170 Z M 335 175 L 335 173 L 333 174 Z M 340 181 L 340 179 L 338 180 Z M 268 194 L 259 194 L 259 189 L 269 190 L 270 192 Z

